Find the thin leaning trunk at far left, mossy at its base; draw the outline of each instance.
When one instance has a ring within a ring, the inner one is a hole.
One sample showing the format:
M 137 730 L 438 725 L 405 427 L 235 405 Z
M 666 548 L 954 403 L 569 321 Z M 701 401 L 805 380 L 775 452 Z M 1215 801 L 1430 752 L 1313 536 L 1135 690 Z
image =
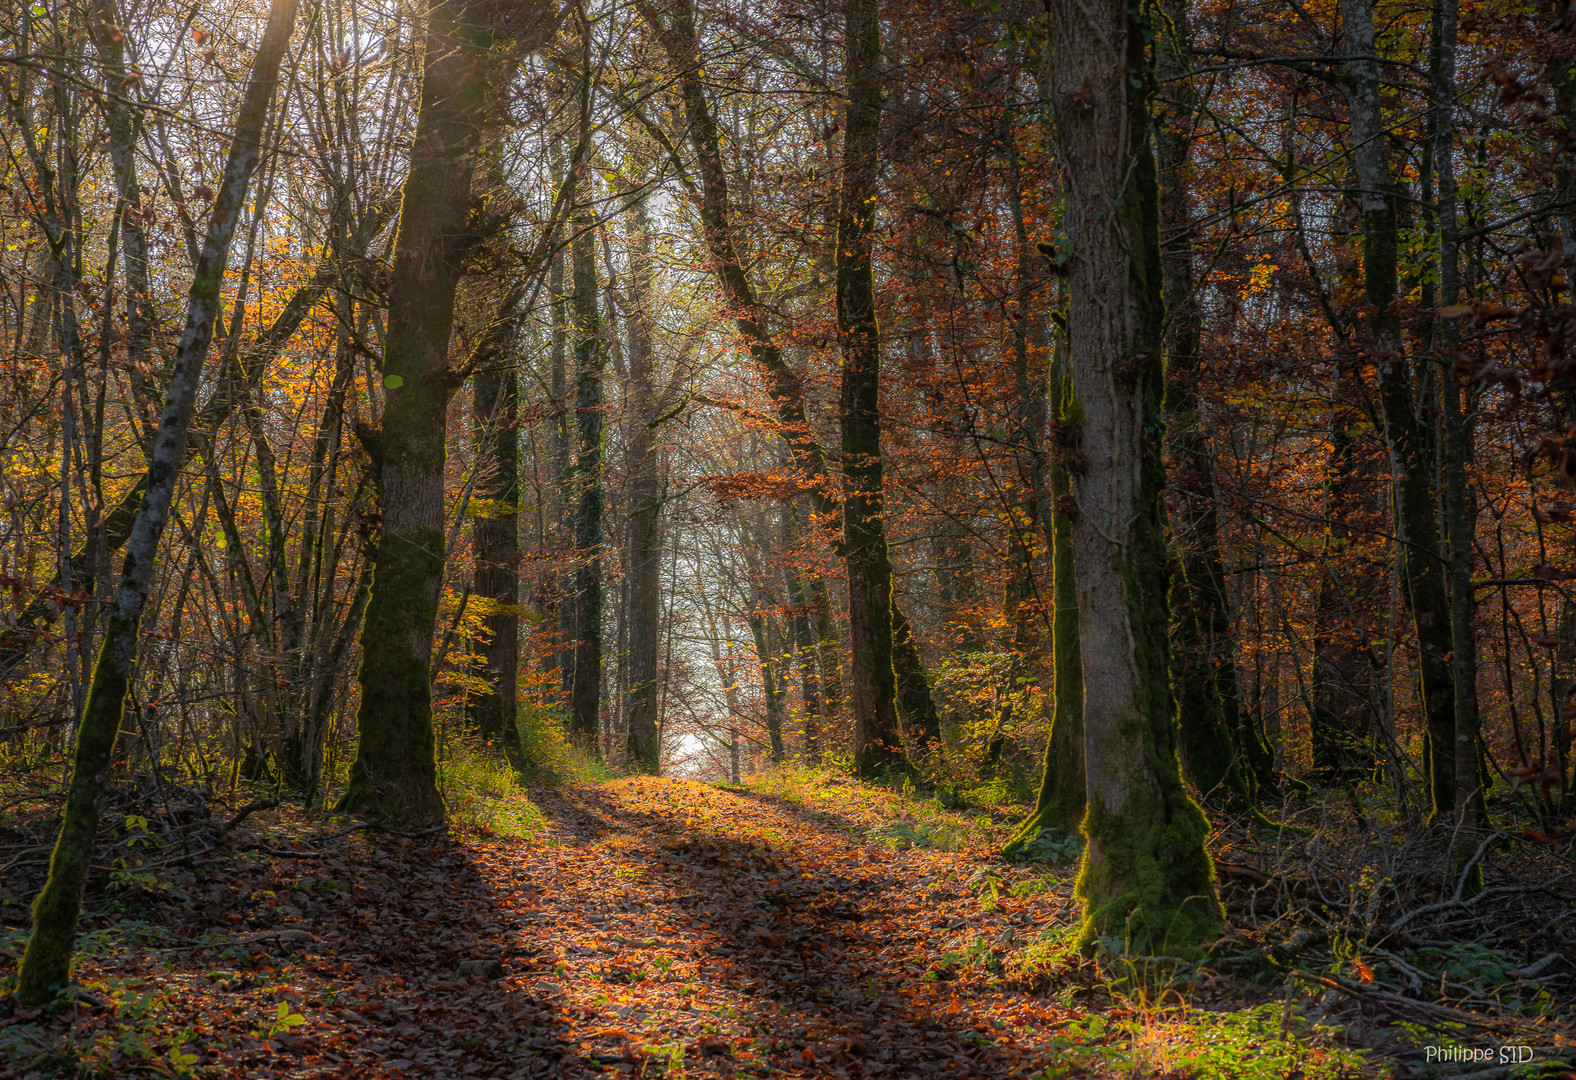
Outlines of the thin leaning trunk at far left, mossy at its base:
M 262 156 L 262 136 L 279 84 L 279 61 L 290 44 L 296 0 L 276 0 L 268 14 L 262 46 L 252 61 L 246 96 L 235 123 L 235 139 L 219 183 L 192 274 L 186 328 L 164 388 L 164 410 L 153 440 L 145 495 L 126 541 L 120 585 L 104 623 L 104 643 L 93 667 L 77 727 L 71 762 L 71 785 L 49 859 L 49 878 L 33 902 L 33 933 L 17 971 L 17 1000 L 30 1007 L 47 1003 L 71 974 L 72 940 L 82 911 L 82 886 L 93 859 L 93 840 L 104 806 L 104 785 L 115 755 L 121 708 L 137 657 L 142 610 L 159 538 L 170 519 L 175 481 L 186 457 L 186 435 L 197 400 L 203 361 L 219 312 L 219 290 L 230 257 L 235 225 L 246 205 L 246 191 Z

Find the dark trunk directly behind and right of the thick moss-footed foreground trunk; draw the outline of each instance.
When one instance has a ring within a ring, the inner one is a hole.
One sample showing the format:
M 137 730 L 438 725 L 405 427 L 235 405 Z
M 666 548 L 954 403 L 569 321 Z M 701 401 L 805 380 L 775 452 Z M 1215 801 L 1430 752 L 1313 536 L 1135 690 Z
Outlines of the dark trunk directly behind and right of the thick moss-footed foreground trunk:
M 1171 236 L 1163 257 L 1169 315 L 1166 342 L 1166 430 L 1171 443 L 1177 522 L 1173 547 L 1180 577 L 1173 604 L 1173 678 L 1182 768 L 1206 803 L 1251 804 L 1258 771 L 1267 769 L 1258 733 L 1242 722 L 1237 654 L 1231 640 L 1226 571 L 1220 558 L 1215 503 L 1215 454 L 1199 413 L 1199 326 L 1193 293 L 1193 246 L 1188 208 L 1195 98 L 1187 77 L 1187 13 L 1168 11 L 1169 28 L 1157 41 L 1157 68 L 1171 104 L 1157 117 L 1162 230 Z

